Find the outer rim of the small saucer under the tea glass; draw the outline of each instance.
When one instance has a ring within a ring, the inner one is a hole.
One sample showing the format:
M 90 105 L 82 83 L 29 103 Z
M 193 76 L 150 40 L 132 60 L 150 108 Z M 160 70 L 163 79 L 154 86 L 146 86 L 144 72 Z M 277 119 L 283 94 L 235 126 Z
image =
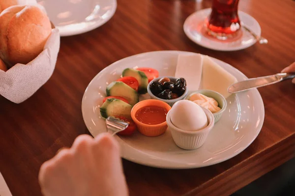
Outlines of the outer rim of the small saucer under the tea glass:
M 188 32 L 188 30 L 185 28 L 187 26 L 187 23 L 188 21 L 190 20 L 190 18 L 194 17 L 198 12 L 207 12 L 211 10 L 211 8 L 205 8 L 205 9 L 201 9 L 201 10 L 198 10 L 192 14 L 190 14 L 184 21 L 183 23 L 183 31 L 184 31 L 184 34 L 192 41 L 194 42 L 195 44 L 199 45 L 199 46 L 202 46 L 204 48 L 207 48 L 207 49 L 212 49 L 212 50 L 216 50 L 216 51 L 238 51 L 238 50 L 242 50 L 242 49 L 247 49 L 251 46 L 253 46 L 254 44 L 256 44 L 256 40 L 254 40 L 253 42 L 251 42 L 250 44 L 248 45 L 245 45 L 243 47 L 235 47 L 235 48 L 222 48 L 222 49 L 217 49 L 217 48 L 214 48 L 214 47 L 210 47 L 209 45 L 205 45 L 205 44 L 202 44 L 202 42 L 198 42 L 196 41 L 192 36 L 191 34 Z M 261 26 L 259 25 L 258 21 L 252 17 L 250 14 L 247 14 L 246 12 L 243 12 L 243 11 L 238 11 L 239 13 L 241 14 L 244 14 L 246 15 L 247 17 L 251 18 L 253 21 L 256 21 L 256 23 L 258 24 L 258 27 L 259 27 L 259 31 L 260 33 L 258 33 L 258 35 L 260 36 L 261 35 Z

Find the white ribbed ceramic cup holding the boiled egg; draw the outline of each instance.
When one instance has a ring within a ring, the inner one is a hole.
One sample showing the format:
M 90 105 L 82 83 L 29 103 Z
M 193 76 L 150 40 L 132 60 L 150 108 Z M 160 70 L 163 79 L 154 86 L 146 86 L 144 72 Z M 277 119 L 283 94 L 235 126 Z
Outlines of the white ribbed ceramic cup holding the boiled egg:
M 204 129 L 197 131 L 185 131 L 177 128 L 170 119 L 171 111 L 168 112 L 166 122 L 172 133 L 173 140 L 178 147 L 186 150 L 193 150 L 202 147 L 205 143 L 210 130 L 214 126 L 213 114 L 206 108 L 202 107 L 207 116 L 208 125 Z

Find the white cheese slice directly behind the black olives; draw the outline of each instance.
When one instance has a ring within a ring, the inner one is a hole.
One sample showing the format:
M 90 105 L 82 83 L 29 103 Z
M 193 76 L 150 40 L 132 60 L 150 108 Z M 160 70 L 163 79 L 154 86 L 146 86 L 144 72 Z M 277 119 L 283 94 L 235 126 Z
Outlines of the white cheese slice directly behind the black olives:
M 189 92 L 199 90 L 203 60 L 201 54 L 179 54 L 175 77 L 183 77 L 186 80 L 186 88 Z

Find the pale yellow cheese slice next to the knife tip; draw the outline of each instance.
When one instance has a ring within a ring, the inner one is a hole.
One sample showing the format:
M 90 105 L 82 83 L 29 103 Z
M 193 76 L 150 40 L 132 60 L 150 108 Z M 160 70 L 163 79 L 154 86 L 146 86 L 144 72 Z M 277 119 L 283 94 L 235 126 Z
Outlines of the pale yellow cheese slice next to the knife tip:
M 228 88 L 236 82 L 237 80 L 234 75 L 228 73 L 208 56 L 203 56 L 203 89 L 216 91 L 225 98 L 228 98 L 231 95 L 228 93 Z

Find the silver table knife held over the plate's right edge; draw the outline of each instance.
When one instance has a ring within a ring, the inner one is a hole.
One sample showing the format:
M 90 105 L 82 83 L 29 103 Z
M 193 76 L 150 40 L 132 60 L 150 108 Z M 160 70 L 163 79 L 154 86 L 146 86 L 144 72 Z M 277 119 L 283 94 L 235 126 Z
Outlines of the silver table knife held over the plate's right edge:
M 286 79 L 295 78 L 295 73 L 277 73 L 264 77 L 256 77 L 236 82 L 228 88 L 229 93 L 237 93 L 246 91 L 252 88 L 259 88 L 270 84 L 275 84 Z

